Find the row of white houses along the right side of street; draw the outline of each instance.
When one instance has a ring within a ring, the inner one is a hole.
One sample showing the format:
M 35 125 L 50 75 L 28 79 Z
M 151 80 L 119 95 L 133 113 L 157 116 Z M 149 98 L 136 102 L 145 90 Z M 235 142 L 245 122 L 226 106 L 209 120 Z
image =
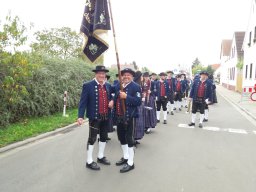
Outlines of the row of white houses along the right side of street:
M 227 89 L 243 92 L 256 84 L 256 0 L 252 1 L 246 31 L 237 31 L 232 39 L 221 42 L 220 83 Z

